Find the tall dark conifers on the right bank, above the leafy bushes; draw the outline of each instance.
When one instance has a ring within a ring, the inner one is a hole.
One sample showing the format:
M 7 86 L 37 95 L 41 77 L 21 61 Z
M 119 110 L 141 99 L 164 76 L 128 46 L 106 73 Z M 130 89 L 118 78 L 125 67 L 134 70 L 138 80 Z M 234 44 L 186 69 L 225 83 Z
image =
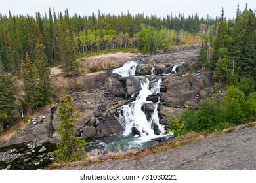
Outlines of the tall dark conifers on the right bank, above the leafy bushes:
M 222 10 L 217 35 L 205 25 L 202 49 L 196 67 L 213 71 L 216 81 L 235 85 L 241 78 L 256 81 L 256 16 L 247 6 L 238 6 L 236 18 L 226 20 Z

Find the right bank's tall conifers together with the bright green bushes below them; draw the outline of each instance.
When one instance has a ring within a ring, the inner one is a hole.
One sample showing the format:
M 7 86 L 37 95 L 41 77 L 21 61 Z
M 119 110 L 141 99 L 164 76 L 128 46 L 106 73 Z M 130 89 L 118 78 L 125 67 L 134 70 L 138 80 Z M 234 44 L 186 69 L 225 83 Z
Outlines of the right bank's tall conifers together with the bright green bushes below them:
M 256 16 L 239 5 L 234 20 L 217 24 L 217 35 L 204 25 L 202 48 L 196 69 L 213 72 L 215 95 L 204 98 L 197 109 L 186 108 L 170 125 L 181 135 L 186 131 L 216 131 L 256 120 Z M 203 85 L 207 85 L 205 82 Z M 202 86 L 203 88 L 204 86 Z M 226 95 L 219 95 L 225 88 Z

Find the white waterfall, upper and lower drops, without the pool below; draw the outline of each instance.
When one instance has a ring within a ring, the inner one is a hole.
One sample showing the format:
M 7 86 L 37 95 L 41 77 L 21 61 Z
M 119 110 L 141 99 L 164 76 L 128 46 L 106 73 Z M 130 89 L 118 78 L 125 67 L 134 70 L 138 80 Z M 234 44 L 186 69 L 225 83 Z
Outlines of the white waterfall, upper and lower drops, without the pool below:
M 123 64 L 122 67 L 114 69 L 113 73 L 118 73 L 123 77 L 134 76 L 137 65 L 139 65 L 138 61 L 132 60 Z M 154 73 L 153 68 L 152 74 Z M 146 77 L 140 76 L 140 78 L 142 78 L 141 90 L 135 101 L 119 107 L 116 113 L 116 118 L 125 124 L 123 136 L 134 135 L 134 139 L 127 144 L 130 147 L 161 137 L 165 133 L 164 126 L 159 123 L 158 103 L 146 101 L 149 95 L 160 92 L 162 80 L 156 78 L 150 82 Z

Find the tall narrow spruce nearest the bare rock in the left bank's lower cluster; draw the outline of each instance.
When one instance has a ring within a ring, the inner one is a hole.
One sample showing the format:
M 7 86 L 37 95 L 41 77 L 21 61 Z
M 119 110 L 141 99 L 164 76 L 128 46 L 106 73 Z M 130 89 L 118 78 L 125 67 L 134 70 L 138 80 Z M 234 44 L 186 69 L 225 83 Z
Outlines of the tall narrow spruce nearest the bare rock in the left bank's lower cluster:
M 35 66 L 39 74 L 39 82 L 42 86 L 43 95 L 45 100 L 49 100 L 53 95 L 53 80 L 51 78 L 51 71 L 49 69 L 48 59 L 44 52 L 45 48 L 43 44 L 37 42 L 36 44 L 36 56 Z

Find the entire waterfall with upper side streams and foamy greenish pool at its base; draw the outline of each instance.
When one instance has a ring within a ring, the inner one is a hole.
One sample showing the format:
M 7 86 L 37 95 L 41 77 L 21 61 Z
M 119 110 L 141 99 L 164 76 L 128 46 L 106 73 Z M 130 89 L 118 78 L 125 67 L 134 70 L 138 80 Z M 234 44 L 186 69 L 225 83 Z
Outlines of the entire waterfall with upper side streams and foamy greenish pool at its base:
M 139 77 L 141 90 L 133 93 L 131 97 L 136 97 L 135 101 L 123 105 L 117 109 L 116 118 L 125 125 L 125 131 L 119 137 L 109 137 L 106 144 L 108 148 L 119 148 L 127 150 L 150 146 L 154 140 L 160 138 L 168 139 L 173 133 L 165 134 L 165 127 L 161 125 L 158 117 L 158 102 L 147 101 L 149 95 L 160 93 L 162 75 L 155 75 L 155 67 L 151 69 L 151 75 L 135 76 L 137 65 L 141 61 L 131 60 L 123 64 L 122 67 L 114 69 L 112 73 L 117 73 L 122 77 Z M 176 73 L 175 65 L 171 73 Z M 171 74 L 169 73 L 169 75 Z M 167 74 L 168 75 L 168 74 Z M 154 76 L 154 77 L 152 77 Z

